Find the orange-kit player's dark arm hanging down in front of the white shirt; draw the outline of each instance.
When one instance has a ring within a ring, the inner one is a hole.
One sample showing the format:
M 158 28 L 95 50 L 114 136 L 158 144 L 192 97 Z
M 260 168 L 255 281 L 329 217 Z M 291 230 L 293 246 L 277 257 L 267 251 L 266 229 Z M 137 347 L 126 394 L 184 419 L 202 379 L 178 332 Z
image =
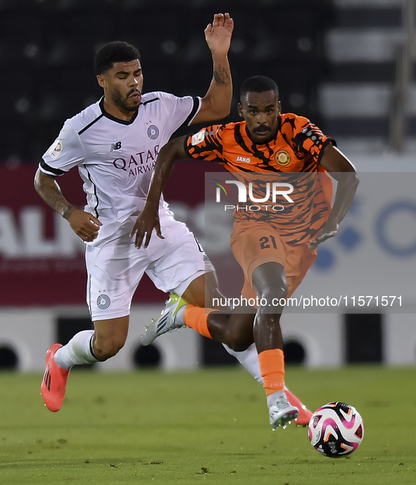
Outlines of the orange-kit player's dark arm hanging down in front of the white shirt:
M 185 138 L 186 137 L 181 137 L 171 140 L 164 147 L 162 147 L 160 153 L 158 154 L 158 160 L 156 161 L 151 179 L 146 204 L 144 204 L 144 208 L 134 223 L 132 232 L 130 233 L 130 238 L 136 234 L 134 245 L 137 247 L 137 249 L 140 249 L 141 244 L 143 243 L 144 235 L 146 235 L 144 247 L 148 247 L 153 229 L 155 229 L 156 234 L 160 239 L 164 239 L 162 232 L 160 231 L 158 211 L 159 199 L 160 195 L 162 194 L 163 187 L 165 187 L 165 183 L 170 176 L 170 172 L 175 165 L 175 161 L 177 161 L 177 159 L 184 159 L 187 156 L 184 150 Z

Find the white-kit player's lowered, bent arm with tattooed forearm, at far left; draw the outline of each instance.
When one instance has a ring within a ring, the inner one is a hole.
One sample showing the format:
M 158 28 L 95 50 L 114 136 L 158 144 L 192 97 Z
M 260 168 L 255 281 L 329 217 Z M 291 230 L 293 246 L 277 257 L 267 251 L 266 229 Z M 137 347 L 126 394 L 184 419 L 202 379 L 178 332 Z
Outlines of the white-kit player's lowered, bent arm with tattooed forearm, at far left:
M 43 173 L 38 168 L 34 176 L 34 188 L 49 207 L 56 210 L 70 223 L 75 234 L 80 236 L 82 240 L 91 242 L 99 235 L 99 226 L 103 224 L 89 212 L 75 209 L 63 197 L 55 177 Z

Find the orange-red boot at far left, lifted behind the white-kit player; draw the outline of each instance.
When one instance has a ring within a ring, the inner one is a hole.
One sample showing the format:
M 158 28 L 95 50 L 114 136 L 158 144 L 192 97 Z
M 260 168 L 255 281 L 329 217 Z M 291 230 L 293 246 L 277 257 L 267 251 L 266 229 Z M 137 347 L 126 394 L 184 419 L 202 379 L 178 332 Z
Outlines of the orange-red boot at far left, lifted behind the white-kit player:
M 40 392 L 45 406 L 49 411 L 56 412 L 62 407 L 65 398 L 65 388 L 68 381 L 69 370 L 62 369 L 53 360 L 56 350 L 61 348 L 60 343 L 54 343 L 46 352 L 46 370 L 40 386 Z

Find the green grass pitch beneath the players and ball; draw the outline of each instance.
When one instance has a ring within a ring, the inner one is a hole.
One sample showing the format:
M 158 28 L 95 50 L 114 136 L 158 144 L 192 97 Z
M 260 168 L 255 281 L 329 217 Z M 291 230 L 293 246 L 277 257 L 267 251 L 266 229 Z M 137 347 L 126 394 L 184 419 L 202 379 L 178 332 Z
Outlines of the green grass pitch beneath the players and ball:
M 263 389 L 243 369 L 103 374 L 75 371 L 61 411 L 40 375 L 0 373 L 0 483 L 414 484 L 416 369 L 287 369 L 315 410 L 357 407 L 362 445 L 324 458 L 305 428 L 272 432 Z

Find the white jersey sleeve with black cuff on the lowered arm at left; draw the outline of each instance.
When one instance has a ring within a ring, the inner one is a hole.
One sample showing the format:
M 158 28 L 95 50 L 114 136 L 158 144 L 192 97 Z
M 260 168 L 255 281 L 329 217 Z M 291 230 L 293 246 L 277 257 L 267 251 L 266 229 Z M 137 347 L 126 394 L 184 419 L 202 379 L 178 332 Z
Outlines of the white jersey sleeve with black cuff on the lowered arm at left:
M 73 124 L 65 121 L 58 138 L 42 156 L 39 168 L 51 176 L 60 176 L 70 168 L 83 163 L 85 150 L 80 135 L 75 131 Z

